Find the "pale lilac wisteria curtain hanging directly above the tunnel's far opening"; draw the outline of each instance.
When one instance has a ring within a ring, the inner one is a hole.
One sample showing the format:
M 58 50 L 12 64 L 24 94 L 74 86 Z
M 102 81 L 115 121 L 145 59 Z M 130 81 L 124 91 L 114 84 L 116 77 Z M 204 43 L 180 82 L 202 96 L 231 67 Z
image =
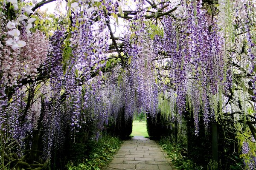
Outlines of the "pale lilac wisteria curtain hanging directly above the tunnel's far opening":
M 142 28 L 141 28 L 142 29 Z M 132 116 L 134 113 L 150 113 L 155 116 L 158 106 L 158 88 L 154 72 L 153 59 L 156 53 L 149 35 L 141 31 L 137 42 L 125 47 L 125 52 L 131 57 L 131 63 L 125 76 L 125 113 Z M 146 39 L 145 37 L 148 37 Z

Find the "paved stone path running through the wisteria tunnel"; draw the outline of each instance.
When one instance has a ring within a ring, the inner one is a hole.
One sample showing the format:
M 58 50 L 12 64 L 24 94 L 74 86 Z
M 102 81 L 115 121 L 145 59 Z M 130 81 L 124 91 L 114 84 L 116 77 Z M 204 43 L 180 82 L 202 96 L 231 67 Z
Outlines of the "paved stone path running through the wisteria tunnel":
M 136 136 L 125 141 L 105 170 L 175 170 L 158 144 Z

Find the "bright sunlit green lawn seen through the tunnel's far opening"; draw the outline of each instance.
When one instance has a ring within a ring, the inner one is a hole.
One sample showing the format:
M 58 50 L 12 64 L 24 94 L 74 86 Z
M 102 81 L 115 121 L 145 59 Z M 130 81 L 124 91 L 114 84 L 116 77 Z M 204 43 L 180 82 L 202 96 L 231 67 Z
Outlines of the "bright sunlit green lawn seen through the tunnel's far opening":
M 148 137 L 147 123 L 143 122 L 133 122 L 132 123 L 132 133 L 131 136 L 144 136 Z

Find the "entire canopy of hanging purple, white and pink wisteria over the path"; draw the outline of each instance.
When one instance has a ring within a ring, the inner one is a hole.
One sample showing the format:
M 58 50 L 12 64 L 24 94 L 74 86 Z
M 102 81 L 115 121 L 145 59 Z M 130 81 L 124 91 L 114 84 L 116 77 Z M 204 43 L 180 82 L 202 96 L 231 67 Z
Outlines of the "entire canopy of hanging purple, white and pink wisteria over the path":
M 250 1 L 243 0 L 241 4 L 253 8 L 253 5 L 249 5 Z M 5 0 L 3 2 L 5 3 Z M 7 0 L 8 6 L 0 6 L 0 127 L 5 126 L 1 129 L 4 133 L 0 132 L 0 136 L 7 134 L 9 145 L 13 143 L 13 139 L 18 140 L 21 149 L 17 150 L 20 155 L 27 154 L 29 159 L 29 154 L 34 149 L 32 147 L 38 146 L 40 163 L 41 159 L 57 160 L 55 158 L 58 156 L 53 153 L 58 152 L 56 150 L 61 149 L 65 143 L 70 143 L 69 136 L 76 136 L 81 129 L 87 133 L 87 127 L 88 134 L 91 133 L 89 130 L 93 128 L 90 127 L 90 122 L 94 127 L 93 138 L 97 140 L 102 136 L 105 124 L 112 120 L 118 121 L 116 118 L 120 114 L 124 114 L 126 120 L 132 118 L 134 113 L 141 112 L 156 116 L 158 110 L 162 110 L 161 107 L 166 107 L 166 110 L 162 111 L 168 111 L 170 121 L 178 120 L 177 126 L 180 126 L 183 117 L 189 114 L 186 119 L 194 120 L 195 135 L 200 135 L 199 125 L 201 128 L 204 123 L 207 130 L 209 122 L 226 116 L 221 113 L 224 110 L 222 103 L 228 103 L 233 97 L 231 102 L 239 105 L 237 101 L 240 100 L 236 100 L 238 97 L 225 96 L 225 101 L 223 97 L 229 93 L 236 94 L 233 91 L 240 89 L 239 85 L 233 88 L 233 74 L 234 77 L 236 74 L 247 74 L 253 78 L 244 79 L 243 84 L 247 85 L 248 81 L 252 81 L 250 86 L 245 86 L 244 89 L 253 91 L 254 96 L 256 94 L 255 36 L 252 29 L 254 22 L 249 20 L 249 14 L 253 15 L 253 11 L 248 8 L 246 12 L 247 6 L 244 6 L 243 14 L 240 14 L 239 6 L 237 14 L 233 17 L 230 13 L 233 6 L 240 4 L 236 0 L 218 1 L 224 3 L 220 4 L 224 6 L 221 7 L 221 12 L 224 12 L 221 14 L 229 13 L 230 18 L 224 18 L 223 23 L 229 19 L 230 26 L 223 28 L 234 40 L 226 39 L 219 33 L 219 26 L 223 25 L 218 25 L 216 18 L 221 16 L 212 16 L 215 11 L 212 11 L 212 15 L 209 14 L 202 6 L 208 2 L 202 0 L 181 0 L 177 8 L 182 9 L 178 13 L 168 13 L 172 10 L 172 1 L 161 1 L 154 4 L 154 8 L 161 9 L 152 13 L 155 16 L 147 13 L 154 10 L 148 8 L 149 3 L 136 0 L 136 10 L 129 16 L 126 15 L 129 12 L 125 12 L 124 18 L 131 23 L 127 24 L 129 31 L 125 33 L 124 38 L 117 38 L 115 35 L 113 37 L 111 31 L 112 24 L 116 27 L 113 17 L 118 19 L 122 16 L 122 1 L 69 1 L 67 6 L 72 12 L 68 12 L 68 20 L 62 20 L 63 17 L 60 17 L 56 23 L 49 24 L 49 27 L 37 22 L 33 31 L 30 30 L 35 18 L 41 19 L 43 16 L 37 16 L 40 12 L 30 16 L 33 6 L 26 2 Z M 33 3 L 36 3 L 36 0 L 33 0 Z M 225 6 L 227 3 L 230 3 L 232 8 Z M 214 8 L 212 10 L 215 10 Z M 4 15 L 6 11 L 12 12 Z M 163 16 L 165 12 L 168 15 Z M 235 60 L 235 63 L 240 62 L 245 68 L 239 71 L 233 71 L 235 66 L 231 54 L 238 49 L 226 49 L 233 45 L 233 41 L 236 42 L 234 33 L 237 30 L 233 30 L 233 18 L 247 20 L 241 22 L 242 26 L 237 26 L 239 31 L 246 32 L 237 35 L 244 36 L 239 41 L 244 43 L 239 53 L 247 53 L 236 56 L 239 61 Z M 45 23 L 56 21 L 54 17 L 48 19 Z M 159 21 L 163 26 L 155 24 Z M 37 29 L 48 29 L 59 23 L 63 25 L 60 28 L 58 26 L 58 29 L 52 28 L 55 31 L 50 30 L 50 38 Z M 230 45 L 225 44 L 226 40 Z M 113 59 L 109 57 L 110 53 Z M 240 58 L 245 62 L 240 61 Z M 249 64 L 245 66 L 247 63 Z M 242 76 L 237 76 L 239 81 Z M 241 98 L 246 101 L 248 97 L 244 95 Z M 255 101 L 251 101 L 255 105 Z M 167 105 L 165 102 L 168 102 Z M 225 112 L 235 111 L 230 103 L 230 110 L 226 109 Z M 249 112 L 247 110 L 251 111 L 246 106 L 239 110 L 245 112 L 244 121 Z M 254 110 L 250 116 L 255 115 Z M 218 116 L 219 114 L 222 114 L 222 117 Z M 239 113 L 236 113 L 231 121 L 240 123 L 239 116 Z M 247 123 L 244 123 L 243 129 L 246 129 Z M 180 133 L 181 130 L 178 131 Z M 187 132 L 189 133 L 188 130 Z M 34 140 L 36 135 L 40 140 Z M 28 137 L 25 139 L 26 136 Z M 20 144 L 22 139 L 24 142 Z M 76 142 L 75 138 L 74 141 Z M 14 144 L 16 145 L 16 142 Z M 247 146 L 244 143 L 244 154 L 254 151 L 254 148 L 250 150 L 249 146 L 250 143 Z M 250 169 L 253 169 L 251 164 L 256 163 L 255 159 L 253 155 L 248 160 Z M 11 164 L 15 162 L 9 163 L 10 166 Z

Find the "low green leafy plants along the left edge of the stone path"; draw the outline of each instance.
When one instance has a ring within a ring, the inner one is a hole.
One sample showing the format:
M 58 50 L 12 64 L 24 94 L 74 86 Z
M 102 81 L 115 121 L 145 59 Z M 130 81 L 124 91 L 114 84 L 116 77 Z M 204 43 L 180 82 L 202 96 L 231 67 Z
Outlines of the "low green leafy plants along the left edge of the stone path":
M 82 163 L 76 165 L 73 161 L 69 161 L 66 167 L 68 170 L 100 170 L 111 160 L 121 144 L 122 141 L 119 138 L 104 136 L 98 142 L 88 144 L 91 149 Z M 79 149 L 81 146 L 78 146 L 77 150 Z

